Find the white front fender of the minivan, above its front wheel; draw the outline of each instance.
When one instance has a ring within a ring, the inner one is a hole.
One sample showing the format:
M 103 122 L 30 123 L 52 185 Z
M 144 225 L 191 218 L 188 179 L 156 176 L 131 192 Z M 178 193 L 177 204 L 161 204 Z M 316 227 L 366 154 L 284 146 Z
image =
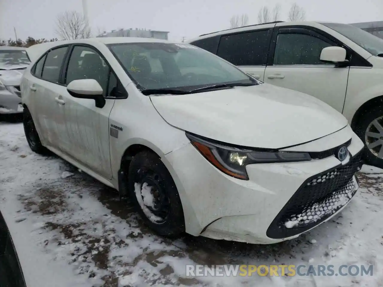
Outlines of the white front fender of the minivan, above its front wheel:
M 349 123 L 364 103 L 379 96 L 383 96 L 383 67 L 350 67 L 343 108 L 343 115 Z

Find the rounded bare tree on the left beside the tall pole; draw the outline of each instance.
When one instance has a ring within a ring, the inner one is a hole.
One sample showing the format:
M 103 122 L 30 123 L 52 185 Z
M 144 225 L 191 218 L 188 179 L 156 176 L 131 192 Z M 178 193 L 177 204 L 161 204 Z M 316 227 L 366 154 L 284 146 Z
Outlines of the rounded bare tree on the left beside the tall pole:
M 57 16 L 56 34 L 64 40 L 89 38 L 91 31 L 87 20 L 77 11 L 65 11 Z

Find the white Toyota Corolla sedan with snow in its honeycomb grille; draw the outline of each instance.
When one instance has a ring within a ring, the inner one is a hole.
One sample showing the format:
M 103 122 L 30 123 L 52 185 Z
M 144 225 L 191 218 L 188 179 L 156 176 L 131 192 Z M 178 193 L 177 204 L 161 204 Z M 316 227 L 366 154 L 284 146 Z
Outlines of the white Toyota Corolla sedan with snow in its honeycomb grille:
M 130 197 L 160 235 L 288 240 L 337 214 L 358 189 L 363 143 L 316 98 L 188 44 L 55 45 L 22 79 L 29 146 Z

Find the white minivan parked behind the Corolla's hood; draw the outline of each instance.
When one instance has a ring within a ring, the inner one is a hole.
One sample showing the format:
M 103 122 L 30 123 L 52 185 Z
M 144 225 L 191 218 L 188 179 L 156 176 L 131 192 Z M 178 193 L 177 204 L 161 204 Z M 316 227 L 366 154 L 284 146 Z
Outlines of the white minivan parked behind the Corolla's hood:
M 366 144 L 367 163 L 383 168 L 383 39 L 348 24 L 277 21 L 188 42 L 329 104 Z

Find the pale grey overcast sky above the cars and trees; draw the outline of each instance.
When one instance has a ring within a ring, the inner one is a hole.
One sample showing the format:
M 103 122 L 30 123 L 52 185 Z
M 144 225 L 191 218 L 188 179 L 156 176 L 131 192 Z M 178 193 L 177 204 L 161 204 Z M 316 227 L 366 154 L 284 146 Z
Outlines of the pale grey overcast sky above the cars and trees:
M 257 24 L 262 5 L 281 5 L 280 20 L 287 20 L 291 3 L 306 11 L 306 20 L 357 23 L 383 20 L 383 0 L 87 0 L 93 35 L 119 28 L 169 31 L 181 41 L 203 33 L 230 28 L 230 18 L 247 13 Z M 0 39 L 54 38 L 57 14 L 82 12 L 81 0 L 0 0 Z

